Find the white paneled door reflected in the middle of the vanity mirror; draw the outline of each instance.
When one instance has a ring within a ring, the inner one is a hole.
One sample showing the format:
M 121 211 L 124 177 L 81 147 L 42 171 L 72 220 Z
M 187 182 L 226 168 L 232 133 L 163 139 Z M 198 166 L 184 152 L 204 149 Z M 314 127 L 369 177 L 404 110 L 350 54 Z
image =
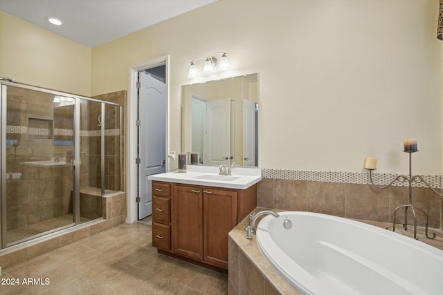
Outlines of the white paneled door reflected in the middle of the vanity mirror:
M 206 102 L 204 164 L 230 163 L 230 99 Z

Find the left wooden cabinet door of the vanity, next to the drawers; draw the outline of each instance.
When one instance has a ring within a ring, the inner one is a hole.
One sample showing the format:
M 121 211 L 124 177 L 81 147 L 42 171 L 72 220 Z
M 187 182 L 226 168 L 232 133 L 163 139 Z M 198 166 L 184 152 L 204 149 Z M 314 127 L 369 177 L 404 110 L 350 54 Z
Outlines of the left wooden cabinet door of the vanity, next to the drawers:
M 174 186 L 174 253 L 203 259 L 203 193 L 198 187 Z

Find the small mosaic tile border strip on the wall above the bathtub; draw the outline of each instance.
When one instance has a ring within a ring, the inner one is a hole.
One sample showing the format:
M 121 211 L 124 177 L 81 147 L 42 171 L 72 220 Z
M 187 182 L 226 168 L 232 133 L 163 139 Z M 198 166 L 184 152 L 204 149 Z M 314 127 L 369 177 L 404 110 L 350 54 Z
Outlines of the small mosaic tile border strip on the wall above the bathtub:
M 387 185 L 399 174 L 372 173 L 372 178 L 376 184 Z M 442 175 L 421 175 L 424 181 L 428 182 L 435 189 L 442 188 Z M 318 182 L 341 182 L 349 184 L 368 184 L 369 173 L 358 172 L 327 172 L 327 171 L 302 171 L 287 169 L 262 169 L 262 178 L 282 179 L 282 180 L 307 180 Z M 407 187 L 408 182 L 395 182 L 393 185 Z M 413 187 L 426 187 L 424 183 L 413 183 Z

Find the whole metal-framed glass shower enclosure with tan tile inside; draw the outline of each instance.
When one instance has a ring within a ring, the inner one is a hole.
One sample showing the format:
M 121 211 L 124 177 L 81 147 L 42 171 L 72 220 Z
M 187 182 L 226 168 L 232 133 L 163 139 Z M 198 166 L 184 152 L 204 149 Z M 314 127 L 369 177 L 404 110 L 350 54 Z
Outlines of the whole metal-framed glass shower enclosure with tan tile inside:
M 102 218 L 122 189 L 121 106 L 0 81 L 1 248 Z

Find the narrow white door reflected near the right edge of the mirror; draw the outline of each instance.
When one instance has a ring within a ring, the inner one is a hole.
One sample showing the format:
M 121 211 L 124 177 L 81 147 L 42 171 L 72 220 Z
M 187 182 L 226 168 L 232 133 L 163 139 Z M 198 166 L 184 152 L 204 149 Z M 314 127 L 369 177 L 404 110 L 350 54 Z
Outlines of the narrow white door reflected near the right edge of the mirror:
M 255 102 L 243 99 L 243 166 L 255 164 Z

